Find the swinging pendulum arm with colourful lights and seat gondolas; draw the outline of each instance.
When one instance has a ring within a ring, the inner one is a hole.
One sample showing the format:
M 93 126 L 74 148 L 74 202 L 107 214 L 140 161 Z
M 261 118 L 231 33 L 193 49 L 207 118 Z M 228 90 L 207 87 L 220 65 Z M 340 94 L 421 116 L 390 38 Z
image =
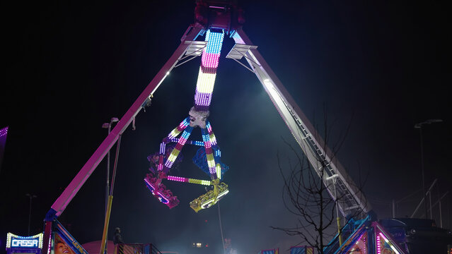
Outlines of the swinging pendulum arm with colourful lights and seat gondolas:
M 224 31 L 210 28 L 205 35 L 206 46 L 202 49 L 201 66 L 195 92 L 195 105 L 190 109 L 189 116 L 184 119 L 168 136 L 163 138 L 160 150 L 148 156 L 151 164 L 149 174 L 144 182 L 152 195 L 170 208 L 179 204 L 178 197 L 168 190 L 163 181 L 178 181 L 212 186 L 210 191 L 200 195 L 190 202 L 195 212 L 215 205 L 229 191 L 228 185 L 221 182 L 221 176 L 228 167 L 221 163 L 221 151 L 216 143 L 211 124 L 207 120 L 212 91 L 216 78 L 216 68 L 219 63 Z M 189 140 L 194 128 L 199 127 L 202 141 Z M 170 170 L 182 161 L 181 150 L 184 145 L 200 146 L 193 162 L 210 176 L 210 180 L 190 179 L 181 176 L 171 176 Z

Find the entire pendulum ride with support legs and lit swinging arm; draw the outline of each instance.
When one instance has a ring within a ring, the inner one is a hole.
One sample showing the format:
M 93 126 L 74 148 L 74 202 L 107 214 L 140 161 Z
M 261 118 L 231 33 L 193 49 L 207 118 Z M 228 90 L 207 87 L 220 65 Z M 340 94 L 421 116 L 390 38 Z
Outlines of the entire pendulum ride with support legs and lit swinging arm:
M 149 106 L 154 92 L 156 92 L 173 68 L 181 66 L 187 61 L 191 61 L 197 56 L 201 56 L 201 65 L 198 71 L 193 107 L 189 109 L 188 116 L 163 138 L 158 152 L 149 155 L 150 172 L 146 174 L 144 183 L 149 188 L 149 191 L 151 191 L 151 195 L 159 202 L 167 205 L 170 209 L 177 206 L 180 200 L 166 188 L 166 181 L 210 186 L 211 189 L 207 193 L 190 202 L 190 207 L 195 212 L 215 205 L 216 202 L 219 202 L 221 198 L 227 195 L 229 192 L 228 185 L 222 182 L 221 179 L 228 170 L 228 167 L 221 162 L 221 151 L 212 125 L 208 120 L 216 70 L 219 66 L 219 56 L 223 41 L 227 37 L 234 40 L 235 45 L 228 52 L 226 59 L 236 61 L 256 75 L 257 80 L 260 81 L 265 92 L 269 95 L 279 115 L 282 116 L 286 126 L 293 134 L 296 142 L 299 143 L 308 161 L 315 169 L 315 172 L 323 180 L 331 197 L 337 203 L 337 207 L 342 216 L 347 217 L 350 214 L 358 214 L 361 219 L 367 218 L 367 214 L 371 211 L 369 202 L 364 198 L 361 191 L 355 187 L 356 185 L 347 175 L 341 164 L 337 162 L 337 159 L 332 159 L 335 156 L 332 155 L 332 152 L 315 131 L 315 128 L 313 128 L 289 92 L 287 92 L 270 66 L 268 66 L 265 59 L 257 51 L 257 46 L 250 41 L 243 31 L 242 25 L 245 22 L 243 10 L 235 4 L 231 4 L 231 1 L 197 1 L 195 20 L 195 23 L 189 25 L 182 35 L 180 39 L 181 43 L 175 49 L 172 56 L 170 56 L 170 59 L 166 61 L 149 85 L 144 88 L 144 91 L 141 92 L 137 100 L 127 110 L 124 116 L 122 116 L 120 121 L 117 122 L 109 135 L 103 140 L 93 155 L 91 155 L 86 164 L 83 165 L 79 173 L 69 183 L 69 186 L 59 195 L 59 198 L 53 203 L 49 212 L 47 212 L 45 217 L 43 253 L 54 253 L 55 238 L 57 236 L 62 236 L 62 238 L 66 239 L 66 243 L 71 246 L 71 250 L 74 250 L 74 253 L 86 253 L 86 250 L 79 248 L 79 243 L 70 236 L 69 232 L 62 228 L 57 218 L 64 212 L 66 206 L 71 202 L 96 167 L 98 167 L 100 161 L 108 154 L 112 146 L 117 143 L 117 147 L 119 147 L 122 133 L 126 131 L 130 123 L 134 122 L 135 117 L 141 109 Z M 197 40 L 203 36 L 204 40 Z M 189 139 L 190 134 L 195 128 L 200 129 L 202 140 Z M 209 176 L 209 179 L 190 179 L 172 174 L 171 169 L 182 159 L 181 151 L 185 145 L 199 147 L 197 155 L 193 158 L 193 162 Z M 319 164 L 323 165 L 323 167 L 318 167 Z M 112 186 L 114 175 L 115 171 L 113 171 Z M 103 254 L 105 249 L 106 230 L 108 229 L 112 203 L 112 186 L 108 199 L 108 211 L 105 215 L 103 246 L 100 248 L 100 254 Z M 337 197 L 341 197 L 340 200 Z M 378 224 L 372 225 L 374 232 L 376 232 L 374 234 L 376 237 L 385 239 L 385 243 L 386 240 L 390 244 L 393 243 L 390 235 L 386 234 Z M 370 229 L 369 226 L 368 228 Z M 361 232 L 359 230 L 361 230 L 361 227 L 357 228 L 355 233 Z M 338 246 L 336 245 L 338 252 L 335 253 L 345 253 L 344 251 L 349 251 L 352 243 L 356 245 L 359 242 L 362 245 L 362 242 L 364 242 L 363 239 L 370 238 L 368 235 L 364 237 L 364 233 L 359 233 L 359 236 L 357 234 L 352 234 L 354 236 L 352 238 L 353 241 L 349 241 L 349 238 L 344 243 L 339 241 L 340 244 Z M 337 239 L 340 239 L 340 236 L 341 234 L 338 234 Z M 366 241 L 367 243 L 369 242 L 368 240 Z M 347 248 L 344 244 L 347 244 Z M 379 240 L 376 245 L 378 246 L 378 244 L 383 244 L 383 241 Z M 404 253 L 396 245 L 393 244 L 392 246 L 395 246 L 397 253 Z M 381 254 L 378 248 L 367 248 L 367 250 L 368 252 L 364 253 Z

